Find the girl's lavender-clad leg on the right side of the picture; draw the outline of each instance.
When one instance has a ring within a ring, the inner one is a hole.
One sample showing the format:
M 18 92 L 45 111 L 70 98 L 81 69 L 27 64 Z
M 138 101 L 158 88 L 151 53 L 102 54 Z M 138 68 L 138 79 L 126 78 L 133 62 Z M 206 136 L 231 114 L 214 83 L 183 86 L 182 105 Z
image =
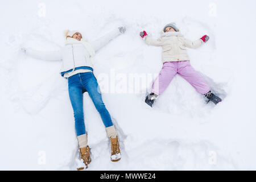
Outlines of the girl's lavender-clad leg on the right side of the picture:
M 191 84 L 197 90 L 197 92 L 201 94 L 209 92 L 209 85 L 200 75 L 200 73 L 195 71 L 189 61 L 179 61 L 177 73 L 187 80 L 189 84 Z

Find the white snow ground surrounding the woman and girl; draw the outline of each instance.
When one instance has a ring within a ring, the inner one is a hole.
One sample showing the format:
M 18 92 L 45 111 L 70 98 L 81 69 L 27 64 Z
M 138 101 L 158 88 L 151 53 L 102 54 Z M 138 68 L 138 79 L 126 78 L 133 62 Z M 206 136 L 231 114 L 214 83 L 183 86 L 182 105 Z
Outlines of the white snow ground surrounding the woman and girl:
M 158 38 L 176 22 L 185 38 L 209 35 L 188 54 L 223 101 L 205 105 L 180 76 L 153 109 L 146 93 L 102 93 L 121 142 L 122 159 L 112 163 L 105 127 L 85 93 L 87 170 L 255 170 L 255 7 L 255 1 L 1 0 L 0 169 L 76 170 L 79 158 L 61 62 L 28 57 L 22 45 L 53 50 L 64 45 L 66 29 L 93 40 L 126 26 L 97 52 L 96 78 L 113 70 L 154 74 L 162 68 L 161 48 L 147 46 L 139 32 Z

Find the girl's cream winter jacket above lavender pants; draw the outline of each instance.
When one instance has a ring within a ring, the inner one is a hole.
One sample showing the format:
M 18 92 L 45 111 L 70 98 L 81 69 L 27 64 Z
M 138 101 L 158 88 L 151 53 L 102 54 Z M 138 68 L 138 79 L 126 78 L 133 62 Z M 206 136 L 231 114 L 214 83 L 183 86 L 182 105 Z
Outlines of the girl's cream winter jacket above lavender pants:
M 180 31 L 178 32 L 163 32 L 161 38 L 153 39 L 150 36 L 146 36 L 145 38 L 146 44 L 149 46 L 162 46 L 162 61 L 185 61 L 189 60 L 187 55 L 187 47 L 188 48 L 197 48 L 200 47 L 202 42 L 201 39 L 191 41 L 185 39 L 183 35 L 181 35 Z

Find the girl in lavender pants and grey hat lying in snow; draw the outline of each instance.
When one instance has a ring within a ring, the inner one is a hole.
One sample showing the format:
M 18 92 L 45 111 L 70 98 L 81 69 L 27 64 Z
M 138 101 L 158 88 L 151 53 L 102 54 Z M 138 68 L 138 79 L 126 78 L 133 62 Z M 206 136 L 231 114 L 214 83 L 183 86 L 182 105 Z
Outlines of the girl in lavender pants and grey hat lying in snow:
M 140 32 L 140 36 L 150 46 L 162 46 L 163 68 L 152 85 L 152 92 L 146 97 L 145 102 L 152 107 L 156 97 L 166 90 L 176 74 L 179 74 L 189 82 L 197 92 L 204 94 L 208 101 L 214 104 L 221 102 L 221 98 L 217 97 L 210 91 L 210 87 L 203 77 L 191 67 L 186 47 L 197 48 L 209 40 L 209 36 L 204 35 L 202 38 L 191 41 L 185 39 L 181 35 L 175 23 L 164 26 L 161 38 L 152 39 L 147 35 L 146 31 Z

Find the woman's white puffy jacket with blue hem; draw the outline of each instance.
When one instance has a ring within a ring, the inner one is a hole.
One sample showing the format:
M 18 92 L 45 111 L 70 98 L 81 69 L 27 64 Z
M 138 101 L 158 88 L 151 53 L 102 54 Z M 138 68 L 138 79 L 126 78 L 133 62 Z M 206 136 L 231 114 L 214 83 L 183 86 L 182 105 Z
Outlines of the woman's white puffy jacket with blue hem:
M 110 40 L 120 35 L 121 32 L 117 28 L 102 36 L 100 39 L 95 40 L 91 44 L 85 40 L 79 41 L 73 38 L 66 40 L 65 46 L 58 51 L 37 51 L 32 48 L 27 48 L 26 53 L 31 57 L 43 60 L 62 60 L 60 74 L 64 75 L 65 72 L 71 72 L 75 69 L 90 69 L 93 71 L 92 56 L 94 52 L 98 51 L 101 47 L 105 46 Z

